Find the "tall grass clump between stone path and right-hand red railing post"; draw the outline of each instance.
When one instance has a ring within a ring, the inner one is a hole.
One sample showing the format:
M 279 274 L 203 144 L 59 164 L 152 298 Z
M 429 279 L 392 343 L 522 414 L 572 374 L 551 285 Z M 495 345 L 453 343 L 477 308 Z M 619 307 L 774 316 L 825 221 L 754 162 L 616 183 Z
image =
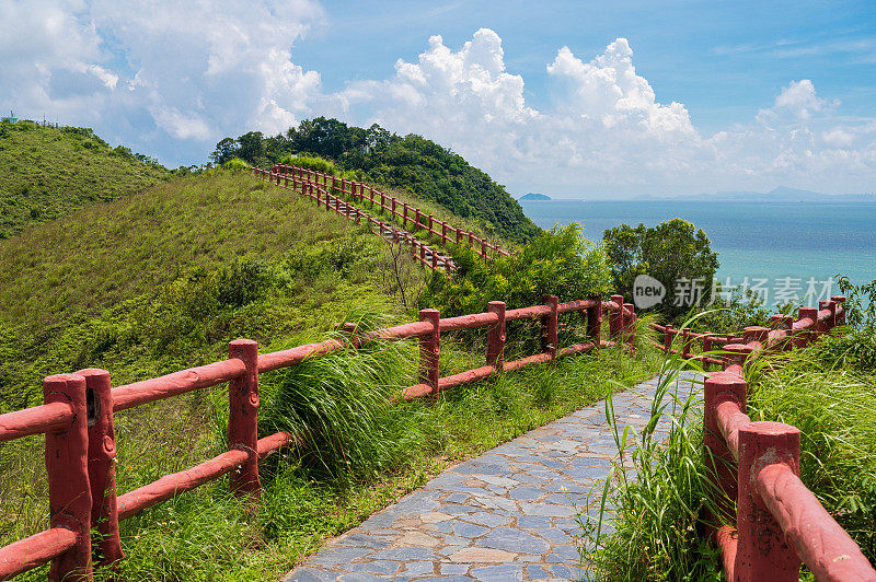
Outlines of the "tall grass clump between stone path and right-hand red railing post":
M 703 463 L 702 381 L 680 374 L 687 366 L 678 356 L 664 360 L 641 428 L 619 424 L 606 403 L 618 455 L 577 516 L 581 559 L 596 580 L 722 580 L 718 554 L 702 535 L 704 516 L 718 514 L 717 480 Z

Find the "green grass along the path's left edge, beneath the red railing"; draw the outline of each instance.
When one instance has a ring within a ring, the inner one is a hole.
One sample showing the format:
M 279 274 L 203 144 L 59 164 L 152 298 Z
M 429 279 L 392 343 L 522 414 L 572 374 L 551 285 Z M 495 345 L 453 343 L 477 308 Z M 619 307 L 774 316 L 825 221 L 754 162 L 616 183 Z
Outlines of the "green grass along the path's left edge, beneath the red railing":
M 347 319 L 378 325 L 374 313 L 359 309 Z M 118 577 L 276 580 L 323 539 L 357 525 L 449 464 L 649 377 L 658 362 L 654 350 L 637 358 L 602 350 L 450 389 L 434 406 L 389 406 L 387 396 L 415 383 L 416 351 L 411 341 L 376 344 L 264 374 L 263 432 L 319 430 L 307 431 L 300 452 L 288 451 L 264 465 L 257 512 L 233 499 L 220 480 L 123 522 L 127 557 Z M 480 338 L 442 342 L 442 373 L 480 364 L 482 358 Z M 219 387 L 118 415 L 119 491 L 224 450 L 226 408 Z M 184 431 L 196 438 L 178 439 Z M 37 443 L 14 444 L 16 454 L 0 451 L 0 523 L 7 524 L 0 544 L 46 526 L 45 479 L 38 466 L 24 461 L 25 453 L 38 454 Z M 39 569 L 22 579 L 44 575 Z M 104 577 L 108 573 L 99 572 Z

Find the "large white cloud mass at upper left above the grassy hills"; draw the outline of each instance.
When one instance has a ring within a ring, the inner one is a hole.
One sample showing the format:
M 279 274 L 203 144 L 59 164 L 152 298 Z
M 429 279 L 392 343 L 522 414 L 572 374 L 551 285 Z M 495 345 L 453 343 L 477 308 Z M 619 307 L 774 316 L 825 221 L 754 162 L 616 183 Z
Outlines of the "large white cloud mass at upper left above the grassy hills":
M 163 150 L 169 163 L 203 159 L 221 137 L 281 131 L 309 113 L 320 75 L 291 49 L 322 18 L 311 0 L 10 0 L 0 3 L 3 101 Z

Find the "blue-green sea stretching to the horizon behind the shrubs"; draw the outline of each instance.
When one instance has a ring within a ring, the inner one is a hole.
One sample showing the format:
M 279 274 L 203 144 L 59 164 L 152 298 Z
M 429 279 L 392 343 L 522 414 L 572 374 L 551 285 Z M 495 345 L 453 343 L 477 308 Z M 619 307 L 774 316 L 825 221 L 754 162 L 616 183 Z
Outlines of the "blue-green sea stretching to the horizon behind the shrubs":
M 766 304 L 815 304 L 840 294 L 837 277 L 876 279 L 876 202 L 676 200 L 520 201 L 543 229 L 577 222 L 599 241 L 606 229 L 654 226 L 681 218 L 702 229 L 718 253 L 718 282 L 750 289 Z

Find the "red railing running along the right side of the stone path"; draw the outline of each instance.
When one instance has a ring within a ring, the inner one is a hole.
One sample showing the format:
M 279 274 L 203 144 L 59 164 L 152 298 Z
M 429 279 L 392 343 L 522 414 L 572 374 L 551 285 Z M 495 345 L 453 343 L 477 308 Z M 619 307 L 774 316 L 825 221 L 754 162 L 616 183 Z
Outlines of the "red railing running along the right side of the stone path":
M 665 351 L 724 368 L 705 381 L 703 428 L 704 456 L 719 488 L 714 501 L 722 513 L 736 513 L 735 527 L 708 532 L 730 582 L 796 582 L 802 563 L 819 581 L 876 581 L 857 544 L 799 479 L 800 431 L 746 415 L 746 362 L 817 341 L 845 323 L 844 302 L 838 295 L 818 309 L 800 307 L 796 319 L 773 315 L 772 328 L 747 327 L 741 338 L 652 326 L 664 333 Z M 694 340 L 703 342 L 701 354 L 691 353 Z

